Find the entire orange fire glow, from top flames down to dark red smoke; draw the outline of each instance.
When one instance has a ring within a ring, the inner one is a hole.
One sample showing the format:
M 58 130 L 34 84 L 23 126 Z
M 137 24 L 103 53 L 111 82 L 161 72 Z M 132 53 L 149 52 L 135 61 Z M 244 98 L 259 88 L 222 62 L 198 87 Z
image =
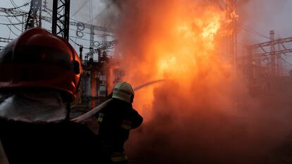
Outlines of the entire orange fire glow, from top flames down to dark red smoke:
M 279 122 L 283 128 L 271 129 L 269 120 L 279 118 L 256 113 L 260 105 L 224 58 L 222 43 L 232 32 L 226 30 L 230 20 L 224 11 L 216 3 L 204 6 L 195 0 L 114 3 L 121 11 L 116 36 L 125 58 L 124 80 L 134 87 L 165 80 L 135 92 L 134 108 L 145 121 L 128 142 L 130 160 L 264 162 L 288 126 Z

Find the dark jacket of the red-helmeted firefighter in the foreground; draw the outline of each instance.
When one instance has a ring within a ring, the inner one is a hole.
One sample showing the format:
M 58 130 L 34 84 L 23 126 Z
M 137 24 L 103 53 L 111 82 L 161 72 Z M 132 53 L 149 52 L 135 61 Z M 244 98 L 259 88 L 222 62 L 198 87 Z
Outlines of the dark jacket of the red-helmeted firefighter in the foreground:
M 0 118 L 0 139 L 10 164 L 111 163 L 99 138 L 75 122 L 29 123 Z

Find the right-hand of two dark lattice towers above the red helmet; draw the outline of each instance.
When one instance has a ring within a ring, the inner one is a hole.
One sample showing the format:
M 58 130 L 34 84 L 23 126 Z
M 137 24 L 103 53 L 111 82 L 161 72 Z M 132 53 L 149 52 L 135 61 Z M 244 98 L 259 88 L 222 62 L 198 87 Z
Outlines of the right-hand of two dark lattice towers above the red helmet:
M 51 33 L 61 34 L 61 37 L 68 40 L 70 25 L 69 15 L 70 0 L 54 0 Z

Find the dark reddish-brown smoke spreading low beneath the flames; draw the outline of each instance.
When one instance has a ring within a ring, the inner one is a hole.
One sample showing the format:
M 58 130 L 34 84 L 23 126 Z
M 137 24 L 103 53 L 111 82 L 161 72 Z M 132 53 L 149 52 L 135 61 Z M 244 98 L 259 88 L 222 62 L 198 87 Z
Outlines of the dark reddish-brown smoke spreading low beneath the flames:
M 271 163 L 285 144 L 288 107 L 279 106 L 279 113 L 246 98 L 238 106 L 217 106 L 212 93 L 185 97 L 169 89 L 176 85 L 155 90 L 154 117 L 130 138 L 136 163 Z

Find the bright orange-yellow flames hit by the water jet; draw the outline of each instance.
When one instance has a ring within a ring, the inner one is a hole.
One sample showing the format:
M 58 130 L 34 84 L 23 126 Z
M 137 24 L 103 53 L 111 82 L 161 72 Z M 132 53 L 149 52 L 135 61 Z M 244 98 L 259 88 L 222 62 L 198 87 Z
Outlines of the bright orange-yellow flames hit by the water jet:
M 138 22 L 135 31 L 145 30 L 145 33 L 133 38 L 137 41 L 133 46 L 121 46 L 127 53 L 126 60 L 130 62 L 126 64 L 128 76 L 125 80 L 134 86 L 150 80 L 166 79 L 178 82 L 181 89 L 188 92 L 194 78 L 200 79 L 202 77 L 199 76 L 210 69 L 218 69 L 217 61 L 214 61 L 219 57 L 215 56 L 215 53 L 218 54 L 215 46 L 216 39 L 221 39 L 224 31 L 221 28 L 226 21 L 224 11 L 214 6 L 197 8 L 194 1 L 181 2 L 172 1 L 170 8 L 159 9 L 162 13 L 157 13 L 152 20 L 145 20 L 150 21 L 150 25 L 142 29 Z M 145 13 L 140 14 L 144 17 Z M 222 32 L 219 33 L 219 30 Z M 135 96 L 135 106 L 145 115 L 152 111 L 153 89 L 145 88 Z

